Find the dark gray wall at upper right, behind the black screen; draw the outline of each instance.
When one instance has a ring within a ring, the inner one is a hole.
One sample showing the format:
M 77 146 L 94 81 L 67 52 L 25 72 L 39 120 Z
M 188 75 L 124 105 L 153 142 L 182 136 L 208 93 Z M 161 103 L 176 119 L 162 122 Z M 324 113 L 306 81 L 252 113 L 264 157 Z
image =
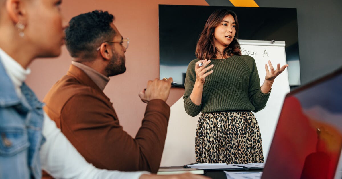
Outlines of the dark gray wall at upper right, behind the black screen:
M 233 6 L 228 0 L 209 5 Z M 302 85 L 342 67 L 341 0 L 255 0 L 260 7 L 297 8 Z

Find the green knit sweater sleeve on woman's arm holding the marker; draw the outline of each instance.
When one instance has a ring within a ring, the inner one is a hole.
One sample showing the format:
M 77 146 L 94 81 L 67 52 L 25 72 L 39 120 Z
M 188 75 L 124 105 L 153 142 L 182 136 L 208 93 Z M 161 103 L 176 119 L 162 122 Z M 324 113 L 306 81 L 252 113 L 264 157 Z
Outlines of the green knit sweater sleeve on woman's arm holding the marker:
M 198 59 L 193 60 L 189 63 L 188 69 L 186 70 L 184 87 L 185 92 L 183 95 L 184 100 L 184 108 L 188 115 L 195 117 L 197 116 L 202 108 L 202 103 L 200 105 L 194 104 L 190 99 L 190 94 L 194 88 L 195 80 L 196 80 L 196 73 L 195 73 L 195 63 Z

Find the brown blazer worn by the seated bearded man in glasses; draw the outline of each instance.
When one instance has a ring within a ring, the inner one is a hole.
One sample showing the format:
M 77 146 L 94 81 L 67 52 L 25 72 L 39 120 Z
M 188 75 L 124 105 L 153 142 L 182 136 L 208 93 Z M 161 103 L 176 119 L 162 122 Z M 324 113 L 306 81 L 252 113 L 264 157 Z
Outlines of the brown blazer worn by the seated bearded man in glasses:
M 158 171 L 170 116 L 170 107 L 164 101 L 148 102 L 142 126 L 132 138 L 123 131 L 102 90 L 81 69 L 70 65 L 44 102 L 45 112 L 95 167 Z

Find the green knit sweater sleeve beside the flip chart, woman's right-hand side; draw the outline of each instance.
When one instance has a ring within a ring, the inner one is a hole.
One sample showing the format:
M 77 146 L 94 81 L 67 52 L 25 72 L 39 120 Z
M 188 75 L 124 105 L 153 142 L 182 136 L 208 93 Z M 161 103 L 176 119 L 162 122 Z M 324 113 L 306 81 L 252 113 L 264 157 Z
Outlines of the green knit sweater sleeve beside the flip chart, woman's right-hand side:
M 260 89 L 260 78 L 255 60 L 252 57 L 249 57 L 247 63 L 251 71 L 249 78 L 248 96 L 250 102 L 255 107 L 253 112 L 258 112 L 266 106 L 270 92 L 263 93 Z

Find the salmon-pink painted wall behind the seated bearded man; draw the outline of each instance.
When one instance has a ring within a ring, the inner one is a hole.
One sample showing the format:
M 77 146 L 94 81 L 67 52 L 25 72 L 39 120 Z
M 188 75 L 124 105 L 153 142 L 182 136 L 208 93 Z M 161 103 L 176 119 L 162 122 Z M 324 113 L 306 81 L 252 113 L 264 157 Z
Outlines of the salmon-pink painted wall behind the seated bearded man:
M 113 102 L 123 129 L 132 136 L 141 126 L 146 107 L 138 93 L 146 87 L 147 80 L 159 78 L 158 4 L 208 5 L 205 0 L 68 0 L 62 4 L 66 22 L 80 13 L 96 9 L 108 11 L 115 15 L 115 25 L 122 36 L 130 39 L 126 51 L 127 71 L 111 77 L 104 92 Z M 63 46 L 60 57 L 34 61 L 26 83 L 42 100 L 50 87 L 66 74 L 70 61 Z M 171 106 L 183 93 L 182 88 L 172 88 L 167 103 Z

